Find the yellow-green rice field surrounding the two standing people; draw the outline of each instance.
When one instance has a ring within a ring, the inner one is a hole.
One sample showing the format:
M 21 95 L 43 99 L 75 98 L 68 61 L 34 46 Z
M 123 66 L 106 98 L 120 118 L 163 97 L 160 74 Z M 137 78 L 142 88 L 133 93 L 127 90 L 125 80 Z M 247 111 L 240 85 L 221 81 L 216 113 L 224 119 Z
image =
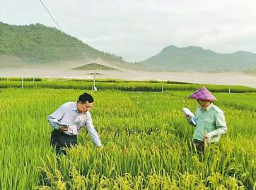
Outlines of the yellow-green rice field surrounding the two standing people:
M 104 149 L 83 129 L 79 145 L 60 158 L 50 147 L 46 117 L 85 90 L 1 88 L 0 189 L 253 189 L 256 94 L 214 93 L 228 133 L 199 156 L 181 111 L 197 108 L 187 99 L 195 86 L 173 85 L 191 88 L 93 91 L 91 114 Z

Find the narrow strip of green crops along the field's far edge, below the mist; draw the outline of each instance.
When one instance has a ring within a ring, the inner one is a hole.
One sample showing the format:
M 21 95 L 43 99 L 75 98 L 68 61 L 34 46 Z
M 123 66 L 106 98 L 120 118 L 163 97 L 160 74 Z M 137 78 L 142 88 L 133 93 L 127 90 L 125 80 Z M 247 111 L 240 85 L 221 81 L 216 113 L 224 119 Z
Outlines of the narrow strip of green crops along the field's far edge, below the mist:
M 10 80 L 10 81 L 8 81 Z M 52 88 L 52 89 L 91 89 L 93 80 L 54 80 L 25 78 L 23 88 Z M 35 80 L 35 81 L 36 81 Z M 176 84 L 175 82 L 128 82 L 123 80 L 97 80 L 95 86 L 98 90 L 120 90 L 120 91 L 195 91 L 202 86 L 207 87 L 212 92 L 229 92 L 230 86 L 212 84 Z M 0 88 L 21 88 L 21 78 L 1 78 Z M 243 86 L 231 86 L 231 93 L 256 92 L 255 88 Z

